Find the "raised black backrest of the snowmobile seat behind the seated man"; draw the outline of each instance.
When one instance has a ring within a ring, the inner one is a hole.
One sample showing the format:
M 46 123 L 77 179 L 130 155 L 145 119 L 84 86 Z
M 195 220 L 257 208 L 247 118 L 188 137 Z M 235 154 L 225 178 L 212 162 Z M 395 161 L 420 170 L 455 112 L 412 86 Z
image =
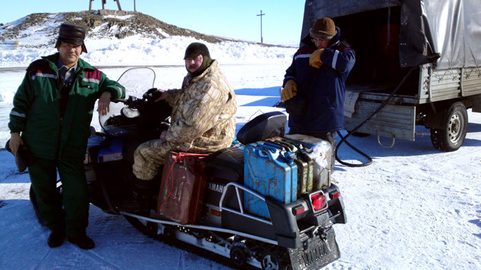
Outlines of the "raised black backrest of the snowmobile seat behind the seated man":
M 238 132 L 237 140 L 243 145 L 266 140 L 272 137 L 284 137 L 287 116 L 282 112 L 267 112 L 247 122 Z

